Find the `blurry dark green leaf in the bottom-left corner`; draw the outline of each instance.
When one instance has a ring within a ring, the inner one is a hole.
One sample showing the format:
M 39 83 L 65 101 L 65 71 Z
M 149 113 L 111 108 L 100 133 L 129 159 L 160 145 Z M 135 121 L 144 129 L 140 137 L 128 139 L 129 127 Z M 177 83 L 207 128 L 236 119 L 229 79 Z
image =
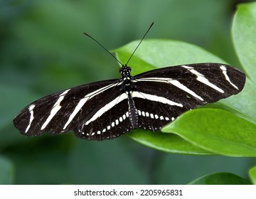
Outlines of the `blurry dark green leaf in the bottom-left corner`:
M 14 166 L 6 158 L 0 156 L 0 185 L 10 185 L 14 181 Z

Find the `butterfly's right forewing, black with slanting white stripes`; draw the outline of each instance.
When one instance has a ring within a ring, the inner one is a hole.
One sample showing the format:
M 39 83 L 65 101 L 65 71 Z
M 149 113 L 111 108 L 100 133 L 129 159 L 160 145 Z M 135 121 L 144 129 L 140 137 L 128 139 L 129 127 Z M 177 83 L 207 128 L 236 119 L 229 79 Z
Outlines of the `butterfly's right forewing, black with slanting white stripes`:
M 181 102 L 206 104 L 235 95 L 245 85 L 245 75 L 229 65 L 201 63 L 151 70 L 134 76 L 139 90 L 148 90 Z

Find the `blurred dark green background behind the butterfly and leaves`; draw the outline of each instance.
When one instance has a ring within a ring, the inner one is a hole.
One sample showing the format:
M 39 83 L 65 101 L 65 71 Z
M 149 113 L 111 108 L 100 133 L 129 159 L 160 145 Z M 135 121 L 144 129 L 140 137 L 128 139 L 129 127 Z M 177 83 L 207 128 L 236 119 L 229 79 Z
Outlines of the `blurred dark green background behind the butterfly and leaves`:
M 165 154 L 137 144 L 128 136 L 102 142 L 79 140 L 71 133 L 26 137 L 11 122 L 39 97 L 119 77 L 116 61 L 83 31 L 111 50 L 142 38 L 154 21 L 146 38 L 193 43 L 239 67 L 230 38 L 238 3 L 1 0 L 0 163 L 4 162 L 11 176 L 4 182 L 184 184 L 217 171 L 247 178 L 255 158 Z M 6 175 L 4 169 L 0 172 L 1 181 Z

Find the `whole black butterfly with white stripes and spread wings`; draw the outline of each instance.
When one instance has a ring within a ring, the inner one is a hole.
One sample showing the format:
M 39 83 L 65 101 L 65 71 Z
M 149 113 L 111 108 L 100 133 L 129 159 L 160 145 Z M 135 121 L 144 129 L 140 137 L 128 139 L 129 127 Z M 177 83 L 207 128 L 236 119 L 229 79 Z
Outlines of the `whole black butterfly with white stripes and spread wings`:
M 245 85 L 243 72 L 220 63 L 177 65 L 135 76 L 125 64 L 119 72 L 120 79 L 36 100 L 15 117 L 14 126 L 26 136 L 73 130 L 80 139 L 114 139 L 132 129 L 159 130 L 181 113 L 235 95 Z

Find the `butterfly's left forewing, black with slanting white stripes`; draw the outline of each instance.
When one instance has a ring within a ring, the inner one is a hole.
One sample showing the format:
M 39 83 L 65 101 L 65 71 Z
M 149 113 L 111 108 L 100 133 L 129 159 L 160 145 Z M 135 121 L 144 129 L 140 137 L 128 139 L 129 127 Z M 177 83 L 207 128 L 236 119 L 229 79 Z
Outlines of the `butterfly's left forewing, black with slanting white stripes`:
M 118 84 L 119 80 L 106 80 L 48 95 L 22 109 L 14 119 L 14 125 L 26 136 L 41 135 L 46 131 L 63 134 L 92 117 L 93 112 L 105 103 L 107 93 L 118 90 Z

